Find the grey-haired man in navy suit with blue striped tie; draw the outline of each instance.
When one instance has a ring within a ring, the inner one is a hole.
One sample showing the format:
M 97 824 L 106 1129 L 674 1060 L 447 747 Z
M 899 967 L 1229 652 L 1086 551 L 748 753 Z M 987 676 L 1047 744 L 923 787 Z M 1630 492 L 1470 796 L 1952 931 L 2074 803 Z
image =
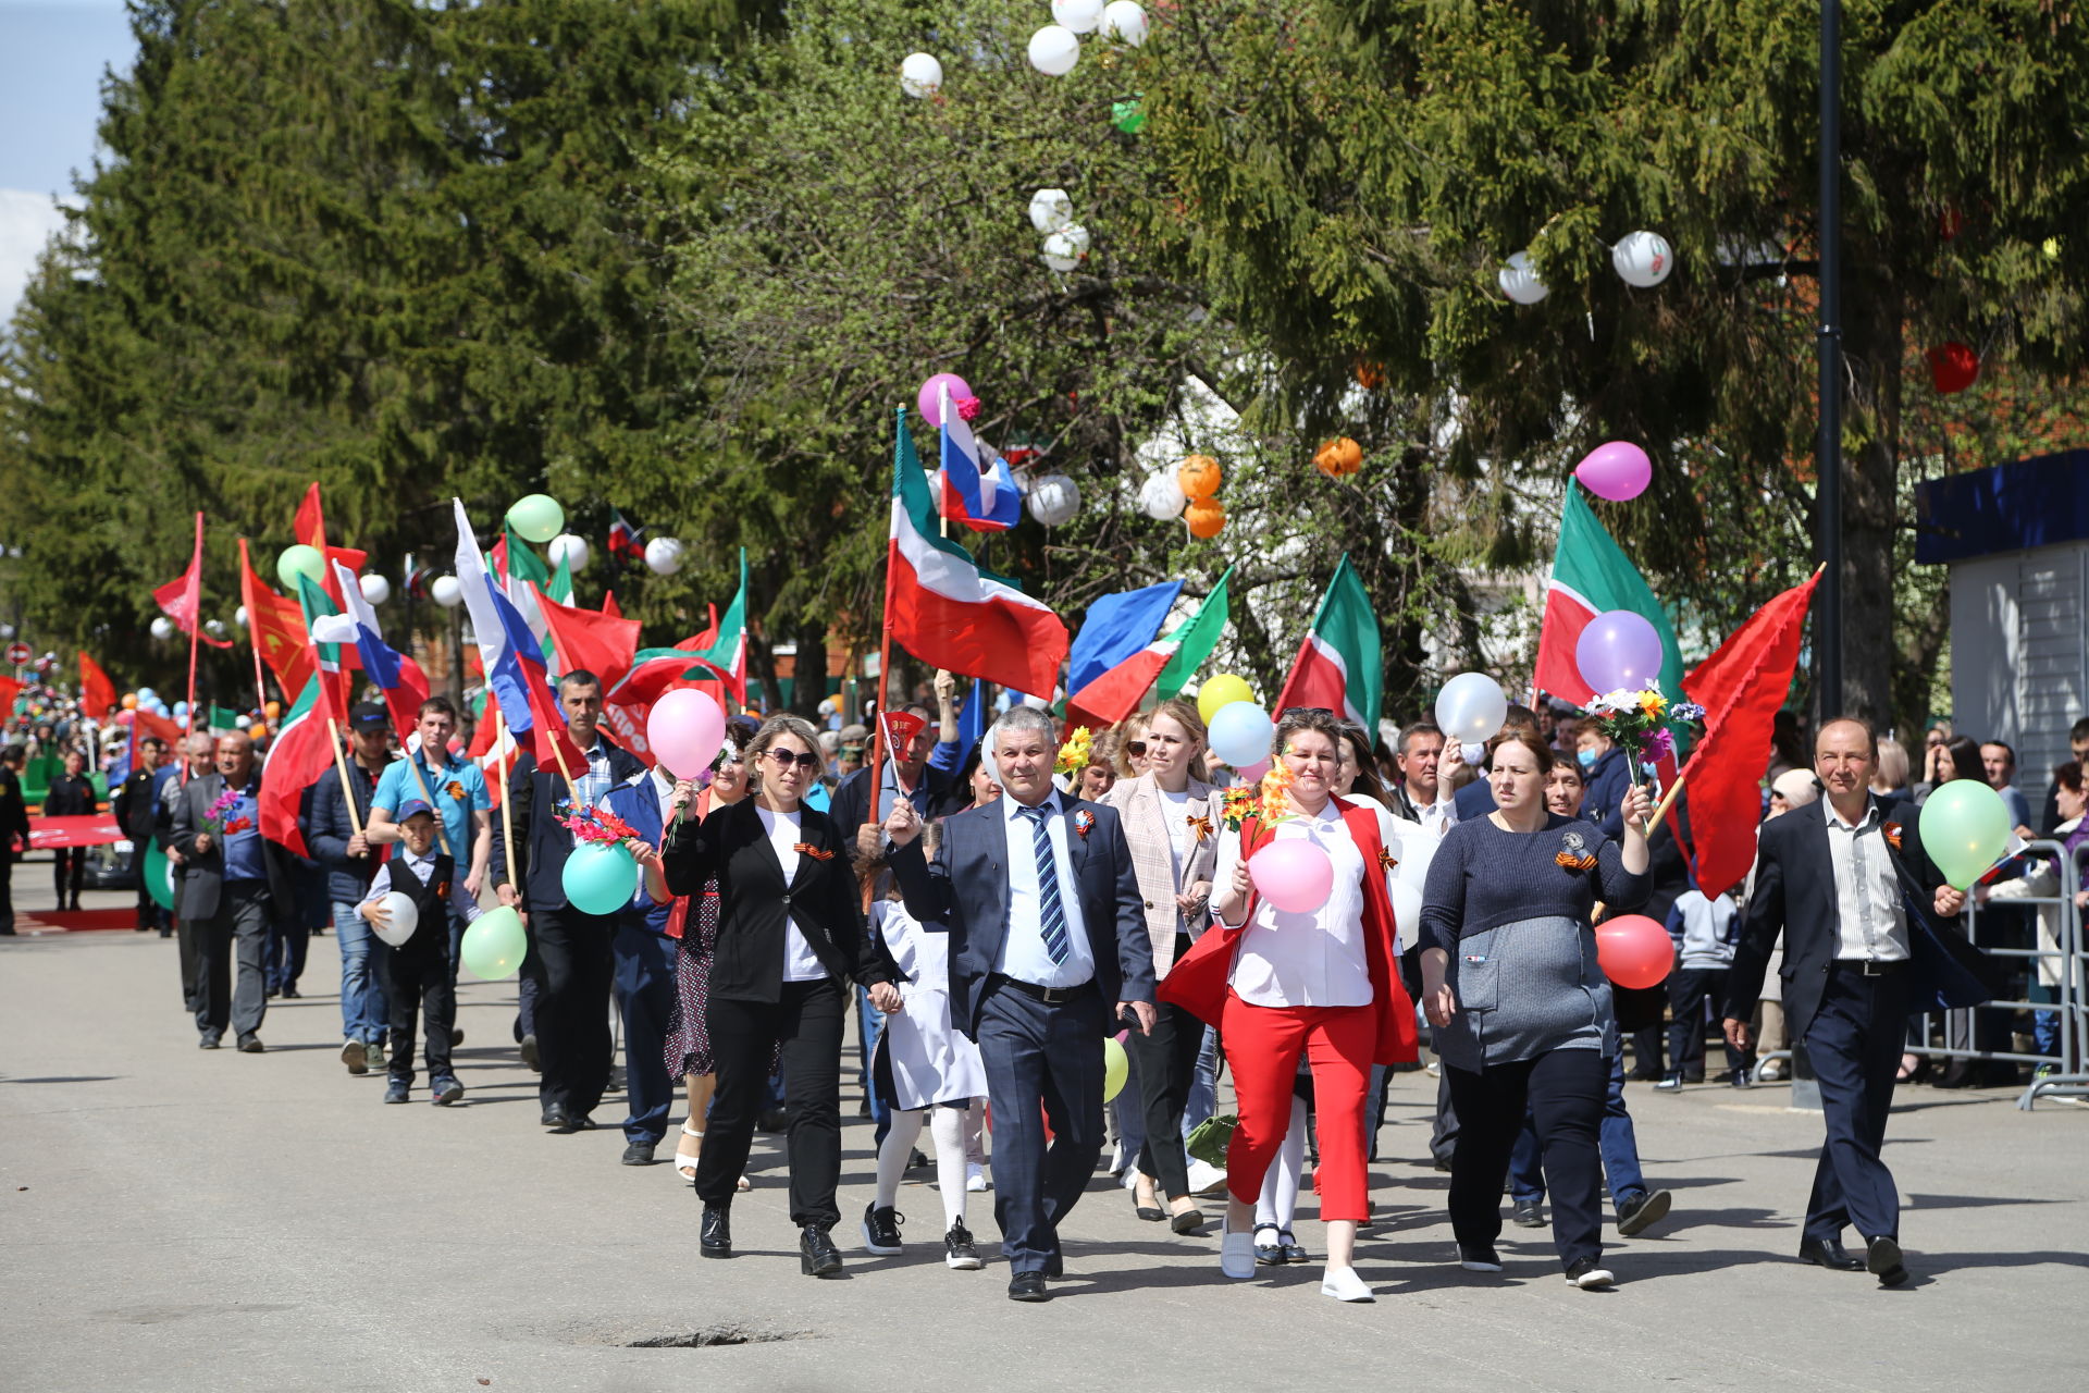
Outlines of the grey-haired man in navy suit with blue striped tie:
M 1051 783 L 1051 716 L 1015 708 L 986 739 L 1007 798 L 944 821 L 934 865 L 900 800 L 888 860 L 907 913 L 950 931 L 950 1021 L 980 1044 L 994 1107 L 1009 1297 L 1044 1301 L 1059 1224 L 1103 1153 L 1103 1036 L 1126 1013 L 1153 1028 L 1153 946 L 1116 808 Z

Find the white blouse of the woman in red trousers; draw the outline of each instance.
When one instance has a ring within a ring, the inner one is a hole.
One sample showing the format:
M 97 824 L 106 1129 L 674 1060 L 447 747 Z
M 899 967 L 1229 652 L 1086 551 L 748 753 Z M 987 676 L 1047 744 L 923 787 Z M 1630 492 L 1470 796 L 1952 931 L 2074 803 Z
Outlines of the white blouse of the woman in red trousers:
M 1329 802 L 1320 817 L 1295 814 L 1276 823 L 1278 842 L 1312 840 L 1335 863 L 1335 890 L 1312 913 L 1276 908 L 1255 896 L 1255 913 L 1233 959 L 1233 990 L 1253 1007 L 1368 1007 L 1370 959 L 1364 957 L 1364 854 Z M 1241 837 L 1218 842 L 1214 886 L 1233 883 Z M 1377 875 L 1377 867 L 1370 867 Z

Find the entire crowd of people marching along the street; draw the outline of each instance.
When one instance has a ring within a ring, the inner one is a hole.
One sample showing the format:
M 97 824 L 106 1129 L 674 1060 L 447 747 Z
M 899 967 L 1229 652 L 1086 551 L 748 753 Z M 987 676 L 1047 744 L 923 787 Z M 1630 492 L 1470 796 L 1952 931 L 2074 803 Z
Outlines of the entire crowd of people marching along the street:
M 953 693 L 938 677 L 907 704 L 921 725 L 890 754 L 834 704 L 827 729 L 735 716 L 712 766 L 675 779 L 600 729 L 593 675 L 566 672 L 558 700 L 585 756 L 570 781 L 524 752 L 506 787 L 489 783 L 462 754 L 457 710 L 430 698 L 412 731 L 378 704 L 349 712 L 338 777 L 303 800 L 309 856 L 261 835 L 259 758 L 242 731 L 190 735 L 178 752 L 125 741 L 113 812 L 140 871 L 146 846 L 171 863 L 173 911 L 140 886 L 138 927 L 180 940 L 198 1044 L 230 1034 L 263 1053 L 267 1000 L 299 994 L 309 936 L 330 927 L 341 1059 L 349 1073 L 382 1069 L 384 1103 L 409 1101 L 416 1063 L 432 1103 L 464 1096 L 451 1055 L 462 936 L 485 906 L 520 911 L 514 1040 L 541 1076 L 543 1128 L 597 1126 L 614 1007 L 623 1161 L 652 1163 L 675 1138 L 704 1257 L 733 1255 L 752 1138 L 781 1130 L 802 1270 L 842 1268 L 840 1082 L 854 1017 L 877 1134 L 861 1245 L 902 1251 L 898 1186 L 925 1163 L 928 1130 L 946 1264 L 982 1266 L 967 1197 L 990 1188 L 1019 1301 L 1049 1299 L 1059 1226 L 1099 1165 L 1143 1220 L 1182 1236 L 1216 1222 L 1226 1278 L 1310 1261 L 1295 1213 L 1316 1195 L 1322 1293 L 1368 1301 L 1354 1266 L 1368 1165 L 1391 1073 L 1425 1061 L 1456 1261 L 1502 1270 L 1506 1193 L 1515 1224 L 1550 1224 L 1569 1282 L 1609 1286 L 1604 1190 L 1627 1236 L 1671 1203 L 1642 1174 L 1625 1080 L 1703 1082 L 1707 1038 L 1721 1040 L 1717 1080 L 1732 1086 L 1778 1078 L 1805 1042 L 1828 1144 L 1799 1255 L 1897 1284 L 1907 1272 L 1878 1149 L 1895 1084 L 1926 1067 L 1909 1053 L 1924 1044 L 1909 1013 L 1957 1007 L 1943 1017 L 1947 1044 L 2008 1048 L 1982 1034 L 1999 1017 L 1972 1025 L 1964 1011 L 2005 984 L 1957 929 L 1964 896 L 1920 850 L 1920 804 L 1945 781 L 1985 779 L 2016 796 L 2026 840 L 2056 835 L 2070 852 L 2089 840 L 2089 721 L 2033 810 L 2008 746 L 1939 727 L 1911 783 L 1907 752 L 1863 723 L 1809 737 L 1780 716 L 1757 867 L 1732 896 L 1707 898 L 1675 844 L 1688 821 L 1648 827 L 1652 798 L 1625 752 L 1569 712 L 1512 706 L 1469 762 L 1427 721 L 1375 733 L 1285 710 L 1253 802 L 1241 794 L 1258 785 L 1210 754 L 1191 702 L 1076 741 L 1070 758 L 1030 706 L 967 746 Z M 44 714 L 54 718 L 0 754 L 8 860 L 27 835 L 27 758 L 58 754 L 46 814 L 96 806 L 92 723 Z M 631 831 L 639 881 L 618 913 L 583 913 L 564 894 L 568 804 Z M 1314 844 L 1333 867 L 1312 908 L 1276 904 L 1249 873 L 1251 854 L 1285 842 Z M 2010 898 L 2049 894 L 2049 879 L 2024 856 L 1976 896 L 2008 915 Z M 79 883 L 79 858 L 61 856 L 61 908 L 77 906 Z M 1613 988 L 1600 971 L 1594 923 L 1619 913 L 1667 923 L 1675 969 L 1663 986 Z M 2010 931 L 2047 942 L 2039 913 Z M 2028 975 L 2033 1000 L 2053 1000 L 2041 961 Z M 2039 1053 L 2051 1017 L 2033 1015 Z M 1957 1061 L 1930 1082 L 2001 1082 L 1987 1073 L 2001 1067 Z M 1861 1255 L 1842 1247 L 1851 1226 Z

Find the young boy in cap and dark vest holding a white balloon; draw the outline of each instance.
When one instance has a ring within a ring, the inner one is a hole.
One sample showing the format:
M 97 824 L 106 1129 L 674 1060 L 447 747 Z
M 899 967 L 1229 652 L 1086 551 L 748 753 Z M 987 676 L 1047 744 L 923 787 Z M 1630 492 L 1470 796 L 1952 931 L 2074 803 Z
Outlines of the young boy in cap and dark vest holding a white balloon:
M 447 1105 L 464 1096 L 464 1084 L 449 1067 L 449 1032 L 457 1021 L 457 988 L 449 977 L 449 900 L 455 881 L 455 865 L 435 846 L 435 808 L 412 798 L 399 806 L 401 846 L 393 852 L 376 877 L 370 892 L 355 906 L 376 929 L 380 940 L 372 944 L 378 979 L 384 984 L 384 1000 L 391 1007 L 391 1063 L 384 1086 L 386 1103 L 405 1103 L 414 1088 L 414 1013 L 424 1015 L 424 1036 L 428 1055 L 428 1090 L 435 1103 Z M 391 927 L 391 915 L 382 900 L 386 894 L 403 894 L 414 900 L 420 917 L 414 931 L 399 946 L 382 942 Z

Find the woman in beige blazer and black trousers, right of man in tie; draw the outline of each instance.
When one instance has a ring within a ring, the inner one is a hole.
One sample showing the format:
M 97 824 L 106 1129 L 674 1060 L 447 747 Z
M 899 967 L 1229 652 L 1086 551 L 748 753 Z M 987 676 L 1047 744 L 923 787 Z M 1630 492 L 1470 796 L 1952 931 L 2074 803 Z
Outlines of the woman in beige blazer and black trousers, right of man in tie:
M 1124 814 L 1124 840 L 1132 848 L 1139 898 L 1147 908 L 1153 940 L 1153 975 L 1197 940 L 1212 919 L 1212 867 L 1218 840 L 1212 835 L 1212 785 L 1203 781 L 1203 721 L 1197 706 L 1174 698 L 1145 718 L 1145 731 L 1128 739 L 1139 746 L 1145 773 L 1111 787 L 1101 802 Z M 1126 754 L 1130 754 L 1126 750 Z M 1189 1105 L 1197 1071 L 1203 1021 L 1182 1007 L 1161 1005 L 1149 1034 L 1132 1034 L 1132 1078 L 1145 1119 L 1145 1142 L 1136 1157 L 1132 1209 L 1143 1220 L 1168 1220 L 1178 1234 L 1203 1228 L 1203 1211 L 1191 1197 L 1189 1155 L 1182 1151 L 1182 1109 Z M 1161 1211 L 1159 1197 L 1168 1209 Z

